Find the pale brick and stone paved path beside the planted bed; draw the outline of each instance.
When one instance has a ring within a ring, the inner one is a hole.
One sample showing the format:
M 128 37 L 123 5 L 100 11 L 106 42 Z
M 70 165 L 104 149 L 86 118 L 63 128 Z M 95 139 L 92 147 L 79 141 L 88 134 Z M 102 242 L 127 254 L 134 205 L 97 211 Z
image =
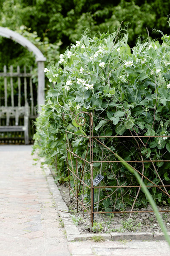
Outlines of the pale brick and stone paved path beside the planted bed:
M 65 204 L 30 153 L 31 146 L 0 145 L 0 256 L 170 256 L 165 241 L 130 241 L 130 234 L 127 241 L 71 241 L 77 228 L 62 212 L 60 226 Z

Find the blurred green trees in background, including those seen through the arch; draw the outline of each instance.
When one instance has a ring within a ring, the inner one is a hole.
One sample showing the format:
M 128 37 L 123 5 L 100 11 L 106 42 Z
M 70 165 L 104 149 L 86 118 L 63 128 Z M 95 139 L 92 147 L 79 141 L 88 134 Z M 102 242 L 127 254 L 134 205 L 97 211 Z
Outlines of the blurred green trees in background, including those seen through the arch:
M 114 32 L 122 23 L 128 28 L 128 44 L 132 48 L 141 40 L 159 38 L 159 29 L 169 34 L 167 15 L 169 1 L 165 0 L 0 0 L 0 26 L 8 27 L 31 40 L 45 55 L 49 67 L 59 59 L 59 53 L 81 38 L 89 28 L 89 36 Z M 28 50 L 0 37 L 0 70 L 3 65 L 33 66 L 34 58 Z

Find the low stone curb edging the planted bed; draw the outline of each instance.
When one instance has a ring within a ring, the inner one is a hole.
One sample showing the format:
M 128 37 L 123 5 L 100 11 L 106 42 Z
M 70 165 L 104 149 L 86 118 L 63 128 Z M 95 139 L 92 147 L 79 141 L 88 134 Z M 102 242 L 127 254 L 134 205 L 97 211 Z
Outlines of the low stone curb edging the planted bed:
M 51 171 L 48 166 L 44 166 L 45 177 L 48 182 L 49 190 L 53 195 L 56 203 L 57 212 L 62 218 L 68 241 L 85 241 L 93 239 L 94 236 L 101 236 L 104 240 L 121 241 L 121 240 L 139 240 L 139 241 L 163 241 L 165 240 L 163 233 L 110 233 L 110 234 L 80 234 L 78 228 L 73 224 L 68 207 L 62 199 L 61 193 L 54 182 Z M 170 232 L 168 232 L 170 236 Z

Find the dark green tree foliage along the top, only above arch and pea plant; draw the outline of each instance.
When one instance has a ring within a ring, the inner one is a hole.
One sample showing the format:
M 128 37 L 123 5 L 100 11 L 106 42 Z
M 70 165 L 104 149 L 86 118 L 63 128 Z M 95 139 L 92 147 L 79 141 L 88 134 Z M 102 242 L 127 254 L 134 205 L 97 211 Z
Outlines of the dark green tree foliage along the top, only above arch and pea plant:
M 47 36 L 51 43 L 62 41 L 63 49 L 78 40 L 85 28 L 91 29 L 91 37 L 99 32 L 114 32 L 115 28 L 128 24 L 129 42 L 136 38 L 153 35 L 152 28 L 167 33 L 169 1 L 128 0 L 68 0 L 68 1 L 24 1 L 5 0 L 0 2 L 0 26 L 17 30 L 24 25 L 32 28 L 40 38 Z

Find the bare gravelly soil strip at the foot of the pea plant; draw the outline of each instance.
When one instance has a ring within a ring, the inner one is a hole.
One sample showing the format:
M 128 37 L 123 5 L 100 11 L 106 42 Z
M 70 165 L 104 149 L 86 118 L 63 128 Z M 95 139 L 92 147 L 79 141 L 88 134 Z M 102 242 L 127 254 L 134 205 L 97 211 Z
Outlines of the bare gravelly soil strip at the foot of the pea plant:
M 57 184 L 62 198 L 68 206 L 73 223 L 78 227 L 79 232 L 90 232 L 90 215 L 82 211 L 82 207 L 78 207 L 77 201 L 69 195 L 69 188 L 65 184 Z M 159 210 L 169 210 L 169 206 L 158 207 Z M 135 210 L 135 209 L 134 209 Z M 141 211 L 150 211 L 152 208 L 148 205 L 147 209 L 142 208 Z M 127 209 L 130 211 L 130 208 Z M 170 231 L 170 212 L 160 212 L 167 231 Z M 129 218 L 130 217 L 130 218 Z M 96 233 L 111 233 L 111 232 L 161 232 L 158 221 L 153 212 L 133 213 L 114 213 L 111 215 L 95 214 L 93 231 Z

